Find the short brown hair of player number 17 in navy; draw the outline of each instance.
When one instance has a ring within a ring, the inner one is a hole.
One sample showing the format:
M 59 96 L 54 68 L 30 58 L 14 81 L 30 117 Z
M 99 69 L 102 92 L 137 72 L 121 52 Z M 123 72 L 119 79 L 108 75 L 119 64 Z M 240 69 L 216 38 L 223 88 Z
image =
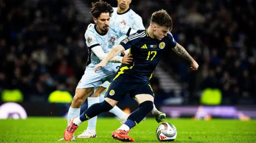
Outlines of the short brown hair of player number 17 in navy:
M 151 22 L 163 27 L 170 28 L 170 31 L 172 29 L 172 18 L 166 12 L 166 10 L 159 10 L 154 12 L 151 17 Z

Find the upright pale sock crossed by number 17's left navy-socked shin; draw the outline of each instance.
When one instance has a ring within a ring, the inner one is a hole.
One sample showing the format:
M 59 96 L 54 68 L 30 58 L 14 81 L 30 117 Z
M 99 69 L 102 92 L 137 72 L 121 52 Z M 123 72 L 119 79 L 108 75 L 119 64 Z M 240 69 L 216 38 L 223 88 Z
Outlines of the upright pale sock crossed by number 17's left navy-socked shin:
M 88 97 L 88 108 L 95 103 L 100 103 L 99 97 Z M 89 119 L 87 129 L 90 129 L 90 131 L 96 132 L 95 131 L 96 130 L 96 122 L 97 122 L 97 116 Z

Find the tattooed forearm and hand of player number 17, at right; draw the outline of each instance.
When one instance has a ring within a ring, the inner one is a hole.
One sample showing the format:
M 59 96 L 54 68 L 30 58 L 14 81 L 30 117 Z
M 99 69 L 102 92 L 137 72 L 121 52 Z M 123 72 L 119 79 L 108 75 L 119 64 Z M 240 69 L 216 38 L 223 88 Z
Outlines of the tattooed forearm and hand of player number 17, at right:
M 182 47 L 180 44 L 177 43 L 177 45 L 172 48 L 172 50 L 179 55 L 180 57 L 186 59 L 191 64 L 191 69 L 196 71 L 198 69 L 198 63 L 189 55 L 189 53 L 185 50 L 184 47 Z

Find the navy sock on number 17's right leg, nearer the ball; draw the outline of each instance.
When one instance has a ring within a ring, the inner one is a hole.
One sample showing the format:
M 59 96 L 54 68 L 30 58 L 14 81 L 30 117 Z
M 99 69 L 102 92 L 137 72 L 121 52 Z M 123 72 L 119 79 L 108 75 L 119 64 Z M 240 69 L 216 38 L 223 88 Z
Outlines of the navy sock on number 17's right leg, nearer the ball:
M 142 102 L 139 108 L 130 114 L 124 124 L 126 124 L 131 129 L 136 124 L 140 123 L 140 121 L 142 121 L 142 119 L 144 119 L 151 110 L 153 110 L 152 101 Z

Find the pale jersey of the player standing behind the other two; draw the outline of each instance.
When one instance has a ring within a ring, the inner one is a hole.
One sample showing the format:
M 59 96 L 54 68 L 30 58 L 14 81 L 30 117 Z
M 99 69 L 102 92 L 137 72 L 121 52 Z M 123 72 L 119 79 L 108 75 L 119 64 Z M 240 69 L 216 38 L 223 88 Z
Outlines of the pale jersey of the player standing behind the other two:
M 118 13 L 117 8 L 113 8 L 114 12 L 112 14 L 111 22 L 119 22 L 120 24 L 126 25 L 126 27 L 131 27 L 134 30 L 143 30 L 145 29 L 142 18 L 136 14 L 132 9 L 128 9 L 124 13 Z M 120 37 L 116 41 L 116 45 L 118 45 L 123 39 L 125 39 L 127 36 L 124 35 Z

